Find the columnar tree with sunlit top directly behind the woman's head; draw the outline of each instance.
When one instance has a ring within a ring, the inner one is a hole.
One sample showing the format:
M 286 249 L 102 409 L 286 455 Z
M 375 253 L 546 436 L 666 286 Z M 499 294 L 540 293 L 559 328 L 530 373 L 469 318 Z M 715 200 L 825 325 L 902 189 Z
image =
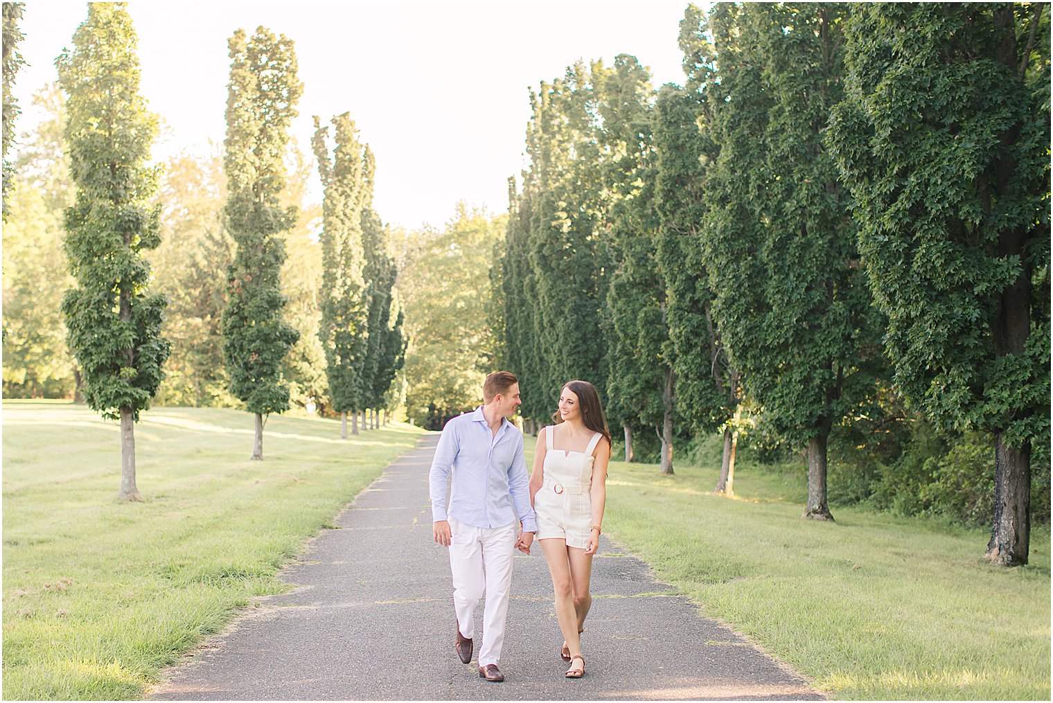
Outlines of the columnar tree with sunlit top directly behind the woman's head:
M 531 165 L 522 194 L 529 207 L 519 208 L 530 276 L 525 299 L 506 300 L 506 305 L 531 310 L 526 339 L 536 340 L 532 354 L 539 387 L 523 398 L 523 414 L 534 420 L 552 414 L 560 387 L 572 379 L 589 380 L 601 397 L 605 394 L 605 346 L 598 330 L 609 254 L 599 232 L 603 147 L 597 85 L 609 73 L 600 62 L 589 67 L 579 62 L 531 95 Z

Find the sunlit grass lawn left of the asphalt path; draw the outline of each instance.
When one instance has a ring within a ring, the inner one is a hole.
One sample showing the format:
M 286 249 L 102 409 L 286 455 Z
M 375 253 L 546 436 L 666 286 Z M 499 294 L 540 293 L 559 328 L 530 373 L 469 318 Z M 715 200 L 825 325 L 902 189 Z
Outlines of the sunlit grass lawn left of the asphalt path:
M 3 402 L 3 698 L 136 698 L 160 667 L 276 594 L 282 563 L 420 430 L 157 407 L 136 427 L 142 503 L 119 503 L 118 424 Z

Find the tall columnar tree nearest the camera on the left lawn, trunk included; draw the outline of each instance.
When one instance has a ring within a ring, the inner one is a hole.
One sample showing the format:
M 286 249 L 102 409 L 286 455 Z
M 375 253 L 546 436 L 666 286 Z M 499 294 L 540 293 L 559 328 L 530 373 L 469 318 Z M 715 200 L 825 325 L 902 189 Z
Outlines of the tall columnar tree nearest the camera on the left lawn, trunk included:
M 141 500 L 135 422 L 161 382 L 168 342 L 165 299 L 147 293 L 143 257 L 160 242 L 148 163 L 157 120 L 139 95 L 136 35 L 124 3 L 90 3 L 87 20 L 58 59 L 68 95 L 65 139 L 77 185 L 66 210 L 66 254 L 77 280 L 62 301 L 87 404 L 121 422 L 121 500 Z

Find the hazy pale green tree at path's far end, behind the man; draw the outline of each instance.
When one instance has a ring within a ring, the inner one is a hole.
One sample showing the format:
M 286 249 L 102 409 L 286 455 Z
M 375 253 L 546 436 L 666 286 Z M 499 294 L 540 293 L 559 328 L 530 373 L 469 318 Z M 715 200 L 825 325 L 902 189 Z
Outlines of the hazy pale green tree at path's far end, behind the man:
M 419 424 L 481 403 L 482 381 L 494 370 L 496 352 L 488 323 L 489 272 L 504 217 L 459 203 L 443 229 L 403 235 L 398 288 L 410 340 L 403 369 L 406 414 Z

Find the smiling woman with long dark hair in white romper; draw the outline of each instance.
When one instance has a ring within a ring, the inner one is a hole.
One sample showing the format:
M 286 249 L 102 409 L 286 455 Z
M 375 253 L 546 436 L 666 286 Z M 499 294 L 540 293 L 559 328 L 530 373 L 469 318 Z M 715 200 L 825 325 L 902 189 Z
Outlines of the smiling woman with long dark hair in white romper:
M 537 436 L 530 493 L 563 632 L 559 656 L 571 663 L 564 676 L 580 679 L 585 660 L 579 635 L 592 605 L 589 577 L 603 522 L 611 431 L 588 381 L 568 381 L 552 419 L 556 424 Z

